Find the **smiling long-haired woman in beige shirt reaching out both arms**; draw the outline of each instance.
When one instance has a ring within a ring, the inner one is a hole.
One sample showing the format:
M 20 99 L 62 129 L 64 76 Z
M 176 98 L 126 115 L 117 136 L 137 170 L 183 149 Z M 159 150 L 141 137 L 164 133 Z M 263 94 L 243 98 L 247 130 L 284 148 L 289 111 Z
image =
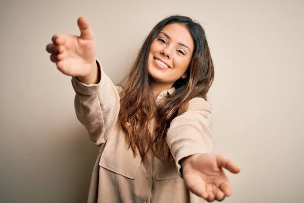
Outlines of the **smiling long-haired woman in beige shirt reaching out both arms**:
M 80 37 L 54 35 L 51 61 L 72 76 L 74 105 L 91 141 L 100 146 L 88 202 L 204 202 L 230 196 L 212 154 L 212 107 L 206 94 L 214 69 L 202 26 L 185 16 L 159 22 L 145 39 L 130 74 L 115 86 L 95 58 L 88 22 Z

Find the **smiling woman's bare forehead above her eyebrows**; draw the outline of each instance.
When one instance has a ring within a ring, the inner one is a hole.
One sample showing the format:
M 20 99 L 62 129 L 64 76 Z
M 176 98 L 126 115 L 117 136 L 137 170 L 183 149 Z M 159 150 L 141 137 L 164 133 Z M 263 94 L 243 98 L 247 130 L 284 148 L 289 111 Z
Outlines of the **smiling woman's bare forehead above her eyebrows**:
M 190 49 L 193 50 L 194 47 L 194 43 L 193 43 L 193 39 L 188 31 L 188 29 L 183 26 L 180 25 L 178 23 L 172 23 L 172 24 L 168 24 L 166 25 L 161 32 L 165 32 L 172 41 L 176 42 L 176 43 L 182 43 L 187 45 Z

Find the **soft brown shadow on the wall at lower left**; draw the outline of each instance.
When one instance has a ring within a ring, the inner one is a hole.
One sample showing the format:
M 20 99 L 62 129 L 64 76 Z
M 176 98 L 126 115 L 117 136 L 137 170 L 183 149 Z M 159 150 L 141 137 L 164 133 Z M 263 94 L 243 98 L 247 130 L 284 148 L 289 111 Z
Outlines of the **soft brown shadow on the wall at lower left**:
M 30 136 L 35 139 L 16 148 L 4 168 L 0 201 L 87 202 L 99 147 L 85 127 L 71 118 L 36 127 Z

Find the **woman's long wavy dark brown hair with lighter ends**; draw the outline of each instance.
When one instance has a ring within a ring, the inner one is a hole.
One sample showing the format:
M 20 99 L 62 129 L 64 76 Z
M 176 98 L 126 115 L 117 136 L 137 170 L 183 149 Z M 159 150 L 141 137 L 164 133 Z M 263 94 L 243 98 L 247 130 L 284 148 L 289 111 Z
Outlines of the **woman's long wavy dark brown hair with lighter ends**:
M 194 41 L 192 61 L 186 70 L 187 78 L 178 79 L 175 91 L 167 94 L 162 102 L 156 104 L 151 77 L 148 74 L 148 56 L 151 43 L 159 32 L 170 23 L 185 26 Z M 213 61 L 205 31 L 200 23 L 186 16 L 170 16 L 160 21 L 150 31 L 143 42 L 130 73 L 120 83 L 123 87 L 120 100 L 119 122 L 126 134 L 126 140 L 134 153 L 146 157 L 149 149 L 165 162 L 170 158 L 166 142 L 171 121 L 187 110 L 188 102 L 194 97 L 207 100 L 207 92 L 214 79 Z M 149 130 L 151 119 L 155 119 L 153 131 Z

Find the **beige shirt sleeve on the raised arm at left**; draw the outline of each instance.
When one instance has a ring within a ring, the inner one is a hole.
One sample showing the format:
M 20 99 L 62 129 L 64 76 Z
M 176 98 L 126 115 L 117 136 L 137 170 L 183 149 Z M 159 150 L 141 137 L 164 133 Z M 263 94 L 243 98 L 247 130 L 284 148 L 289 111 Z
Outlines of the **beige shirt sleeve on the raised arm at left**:
M 120 110 L 118 88 L 103 72 L 96 59 L 101 79 L 98 84 L 84 84 L 77 77 L 71 83 L 75 91 L 74 108 L 78 120 L 86 127 L 90 140 L 100 145 L 114 130 Z

